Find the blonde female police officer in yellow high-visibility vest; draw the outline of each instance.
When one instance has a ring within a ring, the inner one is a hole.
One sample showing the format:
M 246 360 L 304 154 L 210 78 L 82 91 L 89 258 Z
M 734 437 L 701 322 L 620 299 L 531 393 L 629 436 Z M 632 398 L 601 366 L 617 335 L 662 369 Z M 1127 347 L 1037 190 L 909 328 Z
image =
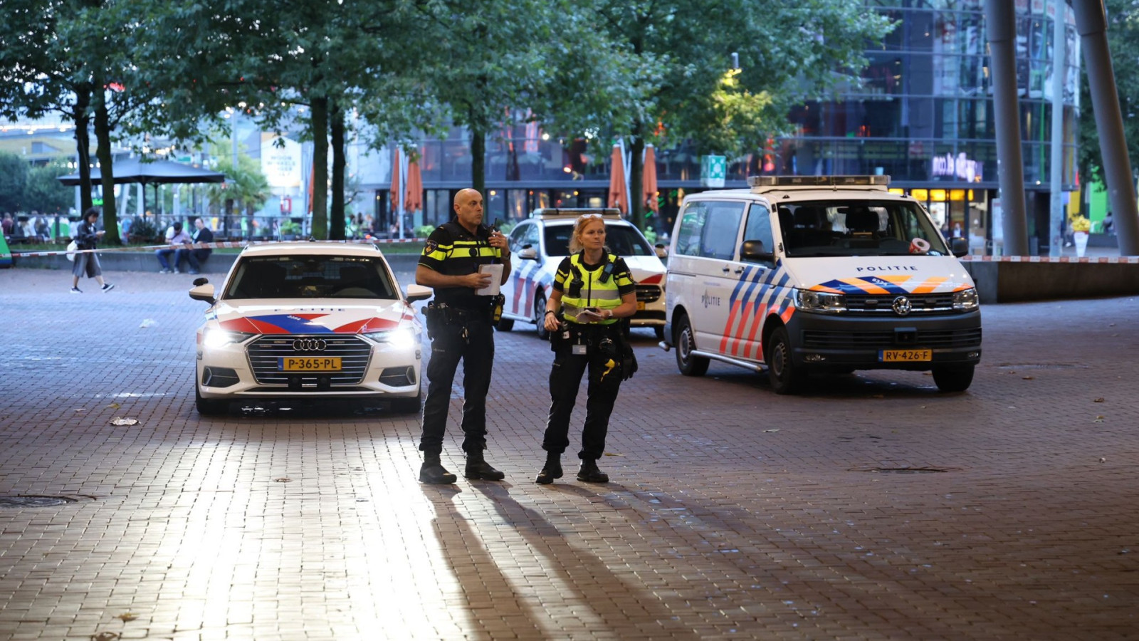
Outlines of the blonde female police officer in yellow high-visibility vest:
M 608 482 L 597 466 L 605 454 L 609 415 L 621 381 L 636 371 L 636 357 L 624 338 L 621 318 L 637 313 L 637 283 L 623 258 L 605 246 L 605 220 L 585 214 L 574 224 L 571 255 L 558 265 L 546 306 L 554 366 L 550 370 L 550 415 L 542 437 L 546 465 L 534 479 L 541 485 L 562 478 L 562 453 L 570 446 L 570 419 L 588 371 L 585 424 L 581 433 L 577 480 Z

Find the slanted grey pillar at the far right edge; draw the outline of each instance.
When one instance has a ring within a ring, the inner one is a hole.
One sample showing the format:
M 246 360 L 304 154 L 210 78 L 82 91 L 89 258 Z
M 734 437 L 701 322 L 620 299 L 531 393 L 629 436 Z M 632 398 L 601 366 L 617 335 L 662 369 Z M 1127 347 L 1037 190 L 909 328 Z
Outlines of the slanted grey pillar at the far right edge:
M 1088 70 L 1088 88 L 1096 114 L 1099 153 L 1104 161 L 1107 198 L 1115 218 L 1120 255 L 1139 255 L 1139 208 L 1131 182 L 1131 161 L 1123 136 L 1123 115 L 1115 89 L 1112 54 L 1107 48 L 1107 18 L 1103 0 L 1073 0 L 1075 29 Z

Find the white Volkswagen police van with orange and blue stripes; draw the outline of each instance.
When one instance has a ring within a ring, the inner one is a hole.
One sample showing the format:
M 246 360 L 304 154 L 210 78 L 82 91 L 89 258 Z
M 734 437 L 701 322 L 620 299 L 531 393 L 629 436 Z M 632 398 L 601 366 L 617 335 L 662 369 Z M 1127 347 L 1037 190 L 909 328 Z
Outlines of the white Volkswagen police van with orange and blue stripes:
M 664 349 L 761 371 L 777 393 L 812 373 L 932 371 L 962 391 L 981 360 L 977 290 L 888 176 L 760 176 L 685 197 L 669 252 Z

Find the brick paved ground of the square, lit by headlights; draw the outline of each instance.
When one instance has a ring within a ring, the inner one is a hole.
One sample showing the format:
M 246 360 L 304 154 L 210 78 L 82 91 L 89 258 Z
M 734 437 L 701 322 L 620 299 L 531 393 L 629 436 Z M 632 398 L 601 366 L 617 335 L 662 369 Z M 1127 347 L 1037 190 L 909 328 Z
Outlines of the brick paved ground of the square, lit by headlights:
M 1137 299 L 986 307 L 962 395 L 645 333 L 608 485 L 533 482 L 550 352 L 498 334 L 507 479 L 425 487 L 383 408 L 199 419 L 189 278 L 108 279 L 0 270 L 0 495 L 75 500 L 0 509 L 0 639 L 1139 639 Z

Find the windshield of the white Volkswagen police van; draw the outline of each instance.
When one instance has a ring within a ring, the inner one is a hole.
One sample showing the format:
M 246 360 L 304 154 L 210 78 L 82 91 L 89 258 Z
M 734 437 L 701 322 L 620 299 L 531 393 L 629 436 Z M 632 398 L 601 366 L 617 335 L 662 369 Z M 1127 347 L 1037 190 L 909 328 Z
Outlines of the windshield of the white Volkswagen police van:
M 920 240 L 931 255 L 949 255 L 945 240 L 916 203 L 818 201 L 779 204 L 779 228 L 788 258 L 909 255 Z

